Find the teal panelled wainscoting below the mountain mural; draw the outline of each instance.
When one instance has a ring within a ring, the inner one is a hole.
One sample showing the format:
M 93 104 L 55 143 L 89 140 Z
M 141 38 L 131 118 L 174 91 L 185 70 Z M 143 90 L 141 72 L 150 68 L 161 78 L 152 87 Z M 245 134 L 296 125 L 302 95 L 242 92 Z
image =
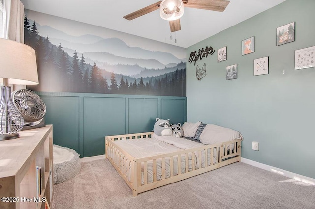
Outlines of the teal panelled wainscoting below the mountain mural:
M 104 154 L 105 136 L 151 131 L 157 117 L 174 124 L 186 121 L 186 97 L 36 93 L 46 104 L 54 144 L 80 157 Z

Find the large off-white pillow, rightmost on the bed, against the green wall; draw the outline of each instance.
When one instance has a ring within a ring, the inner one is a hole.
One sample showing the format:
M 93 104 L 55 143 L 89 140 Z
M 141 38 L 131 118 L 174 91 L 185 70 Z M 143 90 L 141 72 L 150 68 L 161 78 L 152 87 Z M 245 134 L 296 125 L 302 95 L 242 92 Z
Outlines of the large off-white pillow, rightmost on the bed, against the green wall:
M 243 139 L 242 134 L 214 124 L 207 124 L 200 135 L 200 142 L 203 144 L 216 144 L 235 139 Z

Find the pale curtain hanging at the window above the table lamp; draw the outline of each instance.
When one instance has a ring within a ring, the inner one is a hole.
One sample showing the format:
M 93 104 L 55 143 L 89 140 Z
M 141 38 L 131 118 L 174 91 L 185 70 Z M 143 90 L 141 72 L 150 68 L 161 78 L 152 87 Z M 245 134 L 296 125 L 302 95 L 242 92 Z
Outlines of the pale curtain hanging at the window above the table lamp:
M 24 43 L 24 5 L 20 0 L 3 0 L 4 38 Z

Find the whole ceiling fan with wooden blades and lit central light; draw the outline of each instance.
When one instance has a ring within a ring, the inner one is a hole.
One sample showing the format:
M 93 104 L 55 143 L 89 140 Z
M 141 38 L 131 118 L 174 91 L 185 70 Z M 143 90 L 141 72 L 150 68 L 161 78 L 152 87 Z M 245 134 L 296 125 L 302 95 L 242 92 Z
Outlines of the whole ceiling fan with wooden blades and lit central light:
M 184 6 L 223 12 L 229 2 L 228 0 L 162 0 L 132 12 L 124 16 L 124 18 L 133 20 L 159 9 L 161 18 L 168 20 L 171 32 L 175 32 L 181 30 L 179 19 L 183 16 Z

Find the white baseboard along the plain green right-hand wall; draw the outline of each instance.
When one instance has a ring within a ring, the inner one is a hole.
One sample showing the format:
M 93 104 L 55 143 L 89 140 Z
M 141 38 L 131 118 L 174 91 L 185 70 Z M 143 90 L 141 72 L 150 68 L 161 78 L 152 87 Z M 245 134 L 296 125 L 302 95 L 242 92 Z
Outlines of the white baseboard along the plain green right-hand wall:
M 249 164 L 249 165 L 252 165 L 252 166 L 267 170 L 267 171 L 271 171 L 271 172 L 286 176 L 286 177 L 291 178 L 291 179 L 295 179 L 297 181 L 301 181 L 304 183 L 309 183 L 311 185 L 315 185 L 315 179 L 307 177 L 307 176 L 302 176 L 300 174 L 292 173 L 290 171 L 282 170 L 280 168 L 272 167 L 272 166 L 262 164 L 260 162 L 256 162 L 256 161 L 246 159 L 243 157 L 241 157 L 241 162 L 244 162 L 246 164 Z

